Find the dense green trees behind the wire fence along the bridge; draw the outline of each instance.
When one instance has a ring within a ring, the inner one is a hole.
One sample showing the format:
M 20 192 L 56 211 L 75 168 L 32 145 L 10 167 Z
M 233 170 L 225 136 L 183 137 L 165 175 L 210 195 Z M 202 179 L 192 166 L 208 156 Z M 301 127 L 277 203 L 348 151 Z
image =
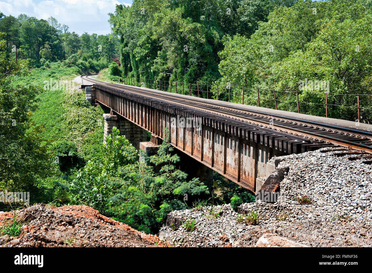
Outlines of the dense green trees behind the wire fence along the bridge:
M 110 14 L 118 76 L 199 84 L 209 98 L 371 123 L 371 0 L 134 0 Z M 301 85 L 302 83 L 302 85 Z M 162 90 L 164 88 L 164 84 Z M 196 87 L 192 88 L 194 95 Z M 174 85 L 172 90 L 175 90 Z M 340 107 L 338 105 L 342 105 Z

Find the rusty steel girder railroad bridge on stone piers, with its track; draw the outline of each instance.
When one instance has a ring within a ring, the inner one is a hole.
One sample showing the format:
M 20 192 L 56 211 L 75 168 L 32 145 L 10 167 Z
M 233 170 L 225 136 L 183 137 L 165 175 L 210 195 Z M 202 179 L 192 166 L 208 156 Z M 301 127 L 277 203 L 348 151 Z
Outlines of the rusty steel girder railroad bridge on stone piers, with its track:
M 151 154 L 167 128 L 171 145 L 200 164 L 191 168 L 205 166 L 209 177 L 215 170 L 253 192 L 262 186 L 257 178 L 275 168 L 267 164 L 275 156 L 334 146 L 372 153 L 366 124 L 82 78 L 91 82 L 87 100 L 110 108 L 104 114 L 105 136 L 115 126 L 137 149 Z

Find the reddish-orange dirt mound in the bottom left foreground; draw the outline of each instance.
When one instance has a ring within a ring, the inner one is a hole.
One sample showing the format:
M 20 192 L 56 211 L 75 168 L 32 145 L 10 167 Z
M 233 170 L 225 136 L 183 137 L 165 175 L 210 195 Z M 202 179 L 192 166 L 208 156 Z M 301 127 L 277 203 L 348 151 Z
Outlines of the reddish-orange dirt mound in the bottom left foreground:
M 87 206 L 33 205 L 14 212 L 23 223 L 17 237 L 0 237 L 0 247 L 156 247 L 157 236 L 144 234 Z M 0 226 L 13 212 L 0 214 Z

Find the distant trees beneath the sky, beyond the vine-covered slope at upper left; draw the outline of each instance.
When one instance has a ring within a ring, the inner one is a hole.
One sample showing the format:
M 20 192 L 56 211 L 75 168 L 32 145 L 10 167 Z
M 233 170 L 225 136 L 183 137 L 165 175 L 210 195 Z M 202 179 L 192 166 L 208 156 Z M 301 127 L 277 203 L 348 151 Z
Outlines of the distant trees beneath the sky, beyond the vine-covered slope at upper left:
M 99 71 L 118 57 L 116 36 L 69 32 L 54 17 L 48 20 L 21 14 L 17 18 L 0 13 L 0 32 L 5 33 L 6 49 L 17 52 L 18 59 L 28 59 L 31 67 L 67 62 L 83 71 Z

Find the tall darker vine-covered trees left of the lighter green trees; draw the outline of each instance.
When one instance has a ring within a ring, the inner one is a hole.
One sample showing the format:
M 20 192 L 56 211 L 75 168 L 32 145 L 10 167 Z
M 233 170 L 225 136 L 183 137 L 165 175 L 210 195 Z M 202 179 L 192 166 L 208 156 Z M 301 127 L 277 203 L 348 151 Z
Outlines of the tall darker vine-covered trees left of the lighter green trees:
M 273 2 L 134 0 L 131 7 L 117 5 L 109 21 L 121 36 L 123 75 L 211 83 L 220 77 L 221 38 L 237 32 L 250 36 Z

